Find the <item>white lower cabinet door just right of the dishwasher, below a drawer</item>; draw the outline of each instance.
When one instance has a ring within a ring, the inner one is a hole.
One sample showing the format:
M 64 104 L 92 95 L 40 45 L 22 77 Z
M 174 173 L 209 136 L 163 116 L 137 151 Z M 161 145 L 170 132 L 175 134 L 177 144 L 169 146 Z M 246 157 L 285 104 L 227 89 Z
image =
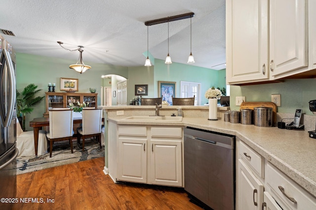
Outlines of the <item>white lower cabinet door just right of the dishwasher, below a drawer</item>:
M 238 160 L 238 210 L 261 210 L 263 184 L 252 174 L 243 160 Z

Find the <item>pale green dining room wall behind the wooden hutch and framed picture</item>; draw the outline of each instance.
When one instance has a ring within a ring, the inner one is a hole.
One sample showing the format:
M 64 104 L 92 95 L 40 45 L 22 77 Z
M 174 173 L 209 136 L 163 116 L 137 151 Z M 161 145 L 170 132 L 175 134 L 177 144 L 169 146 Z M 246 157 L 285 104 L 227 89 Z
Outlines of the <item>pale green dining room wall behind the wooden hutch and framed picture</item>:
M 75 63 L 74 60 L 65 60 L 49 58 L 43 56 L 34 56 L 30 54 L 16 54 L 16 88 L 22 91 L 27 85 L 34 83 L 42 89 L 39 95 L 45 95 L 48 91 L 48 83 L 56 83 L 56 92 L 60 92 L 60 78 L 79 79 L 79 92 L 89 92 L 89 88 L 96 88 L 98 96 L 98 105 L 100 105 L 101 76 L 107 74 L 118 74 L 125 78 L 128 77 L 128 68 L 122 66 L 111 66 L 102 63 L 86 63 L 91 65 L 91 69 L 83 74 L 77 73 L 69 68 L 69 64 Z M 31 130 L 29 121 L 34 118 L 40 118 L 45 112 L 45 100 L 35 107 L 31 114 L 26 116 L 26 129 Z

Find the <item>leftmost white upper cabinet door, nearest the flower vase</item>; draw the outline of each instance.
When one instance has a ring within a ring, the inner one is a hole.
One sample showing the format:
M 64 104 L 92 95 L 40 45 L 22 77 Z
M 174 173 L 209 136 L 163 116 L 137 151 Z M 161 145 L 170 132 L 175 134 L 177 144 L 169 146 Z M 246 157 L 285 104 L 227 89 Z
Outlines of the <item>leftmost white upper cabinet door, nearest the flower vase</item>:
M 226 0 L 226 81 L 269 80 L 268 0 Z

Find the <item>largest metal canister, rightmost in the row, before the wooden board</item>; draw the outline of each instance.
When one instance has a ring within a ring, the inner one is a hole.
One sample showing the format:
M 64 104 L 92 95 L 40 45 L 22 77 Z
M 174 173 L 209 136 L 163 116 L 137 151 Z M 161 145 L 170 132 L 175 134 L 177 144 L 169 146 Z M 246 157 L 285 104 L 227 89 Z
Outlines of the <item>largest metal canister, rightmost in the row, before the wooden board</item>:
M 272 127 L 273 110 L 270 107 L 254 107 L 254 125 Z

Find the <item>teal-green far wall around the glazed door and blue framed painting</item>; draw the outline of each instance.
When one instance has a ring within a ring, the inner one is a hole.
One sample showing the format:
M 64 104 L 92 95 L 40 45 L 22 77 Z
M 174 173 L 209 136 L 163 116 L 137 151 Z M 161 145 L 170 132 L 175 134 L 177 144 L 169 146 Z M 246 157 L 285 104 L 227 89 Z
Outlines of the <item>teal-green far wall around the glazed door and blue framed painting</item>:
M 226 71 L 197 67 L 189 64 L 172 62 L 165 64 L 164 60 L 155 59 L 154 96 L 158 97 L 158 81 L 176 82 L 176 96 L 180 97 L 180 81 L 201 83 L 201 104 L 207 103 L 204 97 L 206 90 L 219 85 L 225 87 Z M 220 87 L 222 88 L 222 87 Z

